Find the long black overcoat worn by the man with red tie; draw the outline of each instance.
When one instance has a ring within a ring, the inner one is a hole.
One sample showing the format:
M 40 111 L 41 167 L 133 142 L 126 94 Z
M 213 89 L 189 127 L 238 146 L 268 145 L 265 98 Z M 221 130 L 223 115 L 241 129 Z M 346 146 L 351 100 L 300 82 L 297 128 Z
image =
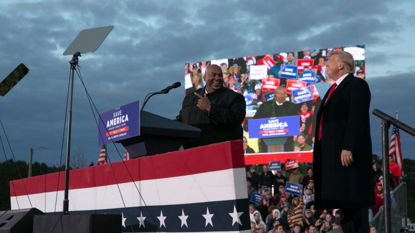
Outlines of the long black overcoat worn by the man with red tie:
M 324 106 L 329 91 L 316 116 L 313 151 L 315 208 L 371 206 L 374 204 L 374 187 L 369 86 L 365 80 L 349 74 Z M 353 152 L 353 163 L 348 167 L 341 164 L 342 150 Z

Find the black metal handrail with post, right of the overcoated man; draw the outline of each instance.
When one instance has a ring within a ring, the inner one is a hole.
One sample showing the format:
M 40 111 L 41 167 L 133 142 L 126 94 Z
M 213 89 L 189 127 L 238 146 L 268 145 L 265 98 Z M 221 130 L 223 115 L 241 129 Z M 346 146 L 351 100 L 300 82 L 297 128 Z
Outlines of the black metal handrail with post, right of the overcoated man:
M 389 182 L 389 127 L 392 125 L 415 136 L 415 129 L 400 122 L 397 119 L 373 109 L 373 115 L 382 119 L 382 168 L 383 168 L 383 213 L 384 213 L 384 233 L 392 233 L 391 222 L 391 188 Z

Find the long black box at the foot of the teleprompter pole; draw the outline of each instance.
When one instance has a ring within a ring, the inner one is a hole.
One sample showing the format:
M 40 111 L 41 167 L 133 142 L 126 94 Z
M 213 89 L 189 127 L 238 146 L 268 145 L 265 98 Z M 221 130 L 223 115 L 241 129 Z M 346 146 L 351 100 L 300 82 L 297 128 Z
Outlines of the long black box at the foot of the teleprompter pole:
M 121 214 L 36 215 L 33 233 L 121 233 Z

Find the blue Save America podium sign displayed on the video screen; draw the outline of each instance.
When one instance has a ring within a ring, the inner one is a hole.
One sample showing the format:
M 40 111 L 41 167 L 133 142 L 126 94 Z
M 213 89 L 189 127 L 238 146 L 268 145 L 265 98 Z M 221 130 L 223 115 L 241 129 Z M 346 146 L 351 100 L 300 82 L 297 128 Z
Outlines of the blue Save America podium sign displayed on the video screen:
M 300 134 L 300 116 L 250 119 L 249 137 L 267 138 Z

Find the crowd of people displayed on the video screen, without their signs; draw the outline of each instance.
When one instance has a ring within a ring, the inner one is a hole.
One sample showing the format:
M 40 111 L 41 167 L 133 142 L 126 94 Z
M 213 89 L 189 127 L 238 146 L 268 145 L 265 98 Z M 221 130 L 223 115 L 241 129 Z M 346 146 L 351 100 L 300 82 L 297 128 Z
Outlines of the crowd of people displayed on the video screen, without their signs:
M 203 76 L 206 68 L 210 64 L 218 64 L 223 71 L 224 86 L 244 95 L 246 100 L 249 99 L 244 121 L 244 136 L 247 144 L 252 149 L 251 153 L 311 151 L 315 130 L 313 122 L 315 122 L 316 108 L 320 105 L 321 98 L 314 93 L 312 100 L 294 104 L 291 90 L 287 88 L 288 78 L 281 77 L 281 66 L 283 64 L 296 66 L 298 59 L 311 59 L 313 60 L 313 66 L 298 66 L 297 80 L 300 80 L 304 71 L 312 70 L 315 74 L 314 83 L 309 82 L 308 86 L 323 82 L 333 83 L 333 80 L 326 74 L 328 55 L 332 51 L 342 49 L 339 47 L 187 63 L 185 75 L 190 76 L 192 87 L 186 89 L 186 94 L 202 88 L 205 84 Z M 250 65 L 267 65 L 266 78 L 278 78 L 278 88 L 275 91 L 267 90 L 263 88 L 262 79 L 251 79 Z M 365 78 L 364 60 L 356 61 L 355 76 Z M 274 137 L 249 137 L 249 119 L 287 116 L 299 116 L 300 131 L 298 135 L 280 137 L 279 140 L 274 140 Z

